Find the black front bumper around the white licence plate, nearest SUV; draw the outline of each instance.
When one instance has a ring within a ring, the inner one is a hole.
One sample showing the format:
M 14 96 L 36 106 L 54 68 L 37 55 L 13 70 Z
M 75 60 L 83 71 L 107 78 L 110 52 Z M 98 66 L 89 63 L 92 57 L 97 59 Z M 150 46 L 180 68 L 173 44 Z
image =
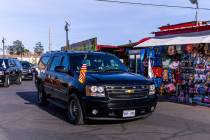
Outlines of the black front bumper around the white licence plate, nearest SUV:
M 157 96 L 135 100 L 104 100 L 84 97 L 82 105 L 86 119 L 91 120 L 132 120 L 150 115 L 156 108 Z M 93 114 L 97 110 L 97 114 Z M 135 110 L 135 116 L 123 117 L 123 111 Z

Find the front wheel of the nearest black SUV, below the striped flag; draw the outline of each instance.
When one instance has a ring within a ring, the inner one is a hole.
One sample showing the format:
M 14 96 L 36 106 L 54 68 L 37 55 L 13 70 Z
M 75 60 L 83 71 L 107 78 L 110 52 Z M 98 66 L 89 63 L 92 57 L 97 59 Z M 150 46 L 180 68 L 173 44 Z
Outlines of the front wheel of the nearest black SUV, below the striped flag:
M 84 124 L 83 111 L 77 95 L 70 96 L 67 106 L 67 118 L 71 124 L 82 125 Z

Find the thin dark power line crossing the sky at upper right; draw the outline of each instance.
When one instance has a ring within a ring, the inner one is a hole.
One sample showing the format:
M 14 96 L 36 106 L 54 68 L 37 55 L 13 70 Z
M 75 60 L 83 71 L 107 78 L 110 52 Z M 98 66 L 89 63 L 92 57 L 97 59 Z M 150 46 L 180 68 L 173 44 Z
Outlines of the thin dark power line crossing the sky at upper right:
M 165 4 L 152 4 L 152 3 L 141 3 L 141 2 L 128 2 L 128 1 L 118 1 L 118 0 L 96 0 L 100 2 L 108 3 L 118 3 L 118 4 L 130 4 L 130 5 L 142 5 L 142 6 L 154 6 L 154 7 L 166 7 L 166 8 L 180 8 L 180 9 L 192 9 L 192 10 L 208 10 L 209 8 L 197 8 L 197 7 L 188 7 L 188 6 L 175 6 L 175 5 L 165 5 Z

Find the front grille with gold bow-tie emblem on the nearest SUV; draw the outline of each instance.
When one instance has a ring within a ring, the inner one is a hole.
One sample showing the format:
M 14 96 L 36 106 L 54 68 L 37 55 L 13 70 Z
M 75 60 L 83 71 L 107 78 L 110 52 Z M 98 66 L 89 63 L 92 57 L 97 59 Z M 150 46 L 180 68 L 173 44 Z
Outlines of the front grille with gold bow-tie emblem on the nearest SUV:
M 149 86 L 106 86 L 106 93 L 110 99 L 140 99 L 149 93 Z

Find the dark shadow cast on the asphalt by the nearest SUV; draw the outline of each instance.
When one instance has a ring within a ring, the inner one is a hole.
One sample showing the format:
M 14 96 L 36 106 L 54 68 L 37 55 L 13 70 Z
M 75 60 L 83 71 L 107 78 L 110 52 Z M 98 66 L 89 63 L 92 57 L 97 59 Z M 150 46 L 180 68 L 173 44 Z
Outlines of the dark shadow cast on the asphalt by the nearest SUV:
M 37 104 L 37 92 L 36 91 L 27 91 L 27 92 L 16 92 L 16 94 L 25 100 L 24 104 L 26 105 L 35 105 L 39 107 L 40 109 L 46 111 L 50 115 L 53 115 L 59 119 L 62 119 L 64 121 L 67 121 L 67 114 L 66 110 L 61 109 L 53 104 L 49 104 L 46 107 L 41 107 Z M 126 122 L 132 122 L 135 120 L 129 120 L 129 121 L 93 121 L 89 120 L 86 122 L 87 125 L 110 125 L 110 124 L 121 124 Z

